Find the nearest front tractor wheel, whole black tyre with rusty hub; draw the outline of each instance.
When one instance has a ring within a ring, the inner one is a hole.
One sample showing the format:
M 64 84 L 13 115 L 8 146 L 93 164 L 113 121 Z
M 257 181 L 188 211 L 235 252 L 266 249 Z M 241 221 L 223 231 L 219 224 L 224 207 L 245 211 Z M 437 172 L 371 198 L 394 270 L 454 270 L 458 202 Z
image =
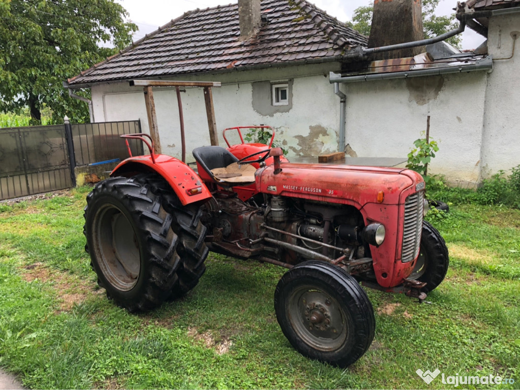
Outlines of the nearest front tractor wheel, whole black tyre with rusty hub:
M 286 272 L 276 287 L 275 309 L 283 334 L 298 352 L 334 366 L 354 363 L 374 337 L 367 294 L 329 263 L 307 261 Z

